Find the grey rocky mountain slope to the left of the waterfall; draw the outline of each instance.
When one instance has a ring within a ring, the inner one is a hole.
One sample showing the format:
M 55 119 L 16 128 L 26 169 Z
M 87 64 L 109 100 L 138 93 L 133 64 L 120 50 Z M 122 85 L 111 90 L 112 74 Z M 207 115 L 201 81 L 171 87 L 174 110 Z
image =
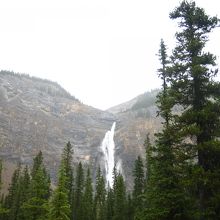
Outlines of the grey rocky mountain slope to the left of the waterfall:
M 114 121 L 111 113 L 80 103 L 56 83 L 0 72 L 0 156 L 8 162 L 30 164 L 42 150 L 53 174 L 70 141 L 75 161 L 96 166 Z

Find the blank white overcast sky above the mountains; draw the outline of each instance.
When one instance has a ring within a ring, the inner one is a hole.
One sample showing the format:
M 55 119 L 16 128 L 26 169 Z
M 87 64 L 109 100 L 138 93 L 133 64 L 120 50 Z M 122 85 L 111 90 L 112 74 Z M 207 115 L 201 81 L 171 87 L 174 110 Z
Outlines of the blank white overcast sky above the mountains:
M 219 0 L 196 0 L 220 17 Z M 0 69 L 58 82 L 106 109 L 160 87 L 160 39 L 175 46 L 179 0 L 0 0 Z M 208 44 L 220 62 L 220 28 Z M 218 78 L 220 79 L 220 77 Z

